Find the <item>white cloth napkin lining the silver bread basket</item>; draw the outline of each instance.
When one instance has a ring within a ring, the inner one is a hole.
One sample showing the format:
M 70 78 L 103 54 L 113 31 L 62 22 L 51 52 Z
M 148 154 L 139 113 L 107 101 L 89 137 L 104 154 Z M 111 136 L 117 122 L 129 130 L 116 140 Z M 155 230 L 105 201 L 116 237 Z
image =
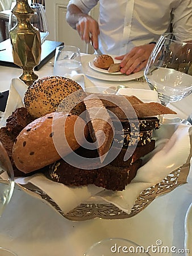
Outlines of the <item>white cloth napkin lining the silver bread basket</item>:
M 95 92 L 93 82 L 84 75 L 76 75 L 71 78 L 79 82 L 82 88 L 91 87 Z M 23 96 L 26 89 L 27 86 L 19 79 L 12 80 L 6 111 L 1 119 L 0 127 L 5 126 L 6 118 L 16 108 L 23 106 Z M 186 163 L 190 154 L 189 133 L 192 130 L 190 127 L 179 123 L 162 125 L 155 132 L 155 150 L 148 155 L 149 159 L 147 157 L 144 159 L 144 166 L 139 168 L 135 179 L 126 186 L 124 191 L 108 191 L 95 185 L 67 187 L 64 184 L 48 180 L 42 174 L 30 177 L 16 177 L 15 182 L 21 185 L 34 184 L 47 193 L 64 213 L 69 212 L 69 210 L 74 209 L 85 201 L 90 200 L 90 203 L 94 203 L 95 199 L 112 203 L 124 212 L 130 213 L 140 192 L 159 183 L 170 172 Z M 94 200 L 91 201 L 93 197 Z

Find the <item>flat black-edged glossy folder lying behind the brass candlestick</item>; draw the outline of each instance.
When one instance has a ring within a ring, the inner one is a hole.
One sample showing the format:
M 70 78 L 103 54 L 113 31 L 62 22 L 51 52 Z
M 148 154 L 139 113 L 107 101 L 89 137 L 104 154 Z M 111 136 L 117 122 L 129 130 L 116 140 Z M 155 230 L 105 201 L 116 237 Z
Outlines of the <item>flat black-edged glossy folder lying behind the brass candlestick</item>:
M 57 46 L 63 46 L 62 42 L 55 42 L 46 40 L 41 45 L 41 61 L 39 65 L 35 67 L 35 70 L 39 70 L 45 63 L 47 63 L 54 55 Z M 7 39 L 0 43 L 0 49 L 6 49 L 0 52 L 0 65 L 7 67 L 20 68 L 13 62 L 12 59 L 12 47 L 10 39 Z

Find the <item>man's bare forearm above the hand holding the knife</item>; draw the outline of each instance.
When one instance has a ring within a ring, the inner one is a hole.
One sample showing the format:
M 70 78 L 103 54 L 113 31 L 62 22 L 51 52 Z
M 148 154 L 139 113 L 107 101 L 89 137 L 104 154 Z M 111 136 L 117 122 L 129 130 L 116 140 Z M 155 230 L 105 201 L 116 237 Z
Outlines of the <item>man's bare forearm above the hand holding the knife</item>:
M 72 28 L 76 29 L 76 24 L 84 16 L 87 16 L 87 14 L 82 13 L 82 11 L 76 5 L 68 5 L 66 11 L 66 21 Z

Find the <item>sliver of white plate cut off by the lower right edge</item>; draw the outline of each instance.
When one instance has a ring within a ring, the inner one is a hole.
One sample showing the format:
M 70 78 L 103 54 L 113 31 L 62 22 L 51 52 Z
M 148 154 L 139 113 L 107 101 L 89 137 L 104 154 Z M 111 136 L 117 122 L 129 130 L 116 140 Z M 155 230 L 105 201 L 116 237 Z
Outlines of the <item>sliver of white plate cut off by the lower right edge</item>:
M 185 249 L 189 250 L 189 253 L 186 255 L 190 255 L 190 251 L 192 251 L 192 203 L 187 209 L 187 213 L 185 216 Z

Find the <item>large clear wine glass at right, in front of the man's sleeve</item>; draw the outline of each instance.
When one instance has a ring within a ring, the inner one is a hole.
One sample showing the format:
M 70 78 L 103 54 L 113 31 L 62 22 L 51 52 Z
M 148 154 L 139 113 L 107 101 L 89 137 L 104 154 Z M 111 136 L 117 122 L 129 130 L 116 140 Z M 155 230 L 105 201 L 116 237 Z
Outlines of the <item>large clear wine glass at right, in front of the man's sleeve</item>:
M 162 34 L 144 70 L 149 87 L 165 106 L 192 92 L 192 43 L 183 42 L 181 36 Z

